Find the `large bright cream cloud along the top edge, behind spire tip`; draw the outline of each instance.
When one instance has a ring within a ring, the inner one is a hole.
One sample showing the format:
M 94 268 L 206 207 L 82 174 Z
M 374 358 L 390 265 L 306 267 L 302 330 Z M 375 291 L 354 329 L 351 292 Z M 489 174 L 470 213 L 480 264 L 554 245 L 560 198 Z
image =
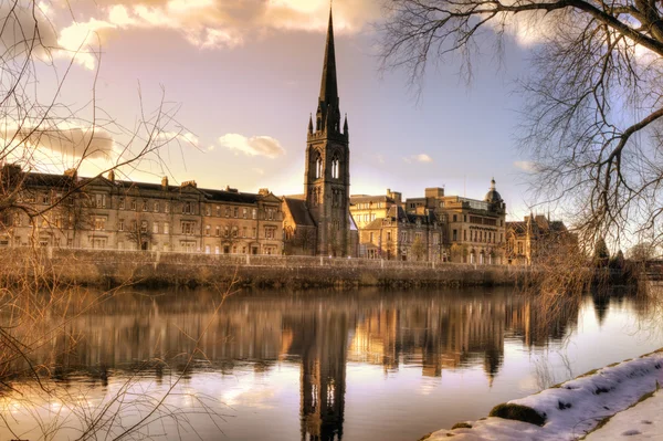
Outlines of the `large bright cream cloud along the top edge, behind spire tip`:
M 327 0 L 96 0 L 93 15 L 63 28 L 57 43 L 63 53 L 80 51 L 76 61 L 94 69 L 99 48 L 118 32 L 170 30 L 201 50 L 232 49 L 273 31 L 324 32 L 328 8 Z M 341 33 L 359 32 L 379 17 L 371 0 L 334 6 Z

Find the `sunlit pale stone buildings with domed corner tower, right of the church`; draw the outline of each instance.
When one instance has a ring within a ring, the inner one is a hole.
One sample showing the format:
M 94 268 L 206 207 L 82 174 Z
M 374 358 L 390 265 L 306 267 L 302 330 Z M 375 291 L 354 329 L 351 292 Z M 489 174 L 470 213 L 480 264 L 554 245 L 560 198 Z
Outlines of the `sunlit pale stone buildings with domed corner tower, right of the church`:
M 364 256 L 412 259 L 415 254 L 420 260 L 475 264 L 505 261 L 506 206 L 495 180 L 483 200 L 444 196 L 443 188 L 427 188 L 424 197 L 404 203 L 400 199 L 400 193 L 389 190 L 386 197 L 352 197 Z

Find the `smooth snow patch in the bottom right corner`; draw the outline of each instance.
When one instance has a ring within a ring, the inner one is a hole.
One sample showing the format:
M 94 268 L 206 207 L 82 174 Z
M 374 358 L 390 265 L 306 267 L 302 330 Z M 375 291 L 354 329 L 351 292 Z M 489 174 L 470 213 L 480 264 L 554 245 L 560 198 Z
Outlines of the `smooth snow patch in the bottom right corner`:
M 663 439 L 663 389 L 652 398 L 612 417 L 591 432 L 587 440 L 645 440 Z

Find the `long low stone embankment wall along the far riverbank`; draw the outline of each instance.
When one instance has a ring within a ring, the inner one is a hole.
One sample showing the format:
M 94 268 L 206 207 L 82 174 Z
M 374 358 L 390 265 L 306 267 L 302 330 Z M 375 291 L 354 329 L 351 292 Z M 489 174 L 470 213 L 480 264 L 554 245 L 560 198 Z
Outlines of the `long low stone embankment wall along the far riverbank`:
M 3 272 L 43 271 L 60 281 L 92 285 L 212 285 L 260 287 L 509 285 L 528 269 L 366 259 L 208 255 L 110 250 L 0 251 Z

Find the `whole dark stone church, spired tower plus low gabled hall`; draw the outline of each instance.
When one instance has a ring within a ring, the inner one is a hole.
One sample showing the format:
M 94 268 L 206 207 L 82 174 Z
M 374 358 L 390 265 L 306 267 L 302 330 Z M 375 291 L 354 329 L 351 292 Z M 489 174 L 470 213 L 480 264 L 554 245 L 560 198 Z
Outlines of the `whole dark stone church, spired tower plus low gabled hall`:
M 308 120 L 304 195 L 283 198 L 283 229 L 286 254 L 357 255 L 348 119 L 341 126 L 332 11 L 317 112 Z

